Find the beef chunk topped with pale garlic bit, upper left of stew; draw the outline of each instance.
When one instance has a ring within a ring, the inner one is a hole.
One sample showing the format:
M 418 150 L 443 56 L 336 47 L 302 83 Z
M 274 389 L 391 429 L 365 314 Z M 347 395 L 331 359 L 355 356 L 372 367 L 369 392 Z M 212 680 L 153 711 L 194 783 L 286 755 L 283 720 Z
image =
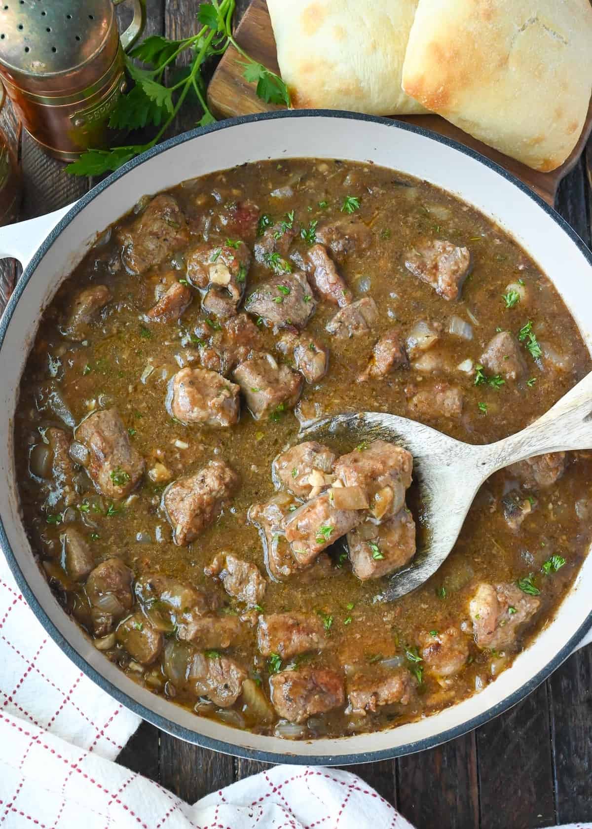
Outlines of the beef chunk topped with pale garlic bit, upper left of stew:
M 206 313 L 228 318 L 236 313 L 245 293 L 250 268 L 250 250 L 242 240 L 232 245 L 198 245 L 187 259 L 187 279 L 206 289 L 202 301 Z

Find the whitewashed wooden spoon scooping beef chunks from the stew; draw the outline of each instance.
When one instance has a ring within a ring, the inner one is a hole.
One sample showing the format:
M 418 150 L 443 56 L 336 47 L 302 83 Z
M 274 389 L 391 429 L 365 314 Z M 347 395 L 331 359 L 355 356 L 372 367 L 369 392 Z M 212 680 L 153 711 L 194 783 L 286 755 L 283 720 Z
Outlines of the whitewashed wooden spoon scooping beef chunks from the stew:
M 495 444 L 464 444 L 415 420 L 380 412 L 337 414 L 314 421 L 298 435 L 320 442 L 332 437 L 352 445 L 389 440 L 413 455 L 419 517 L 428 532 L 410 566 L 395 573 L 378 597 L 399 599 L 420 587 L 448 557 L 478 488 L 497 469 L 546 452 L 592 448 L 592 372 L 541 418 Z

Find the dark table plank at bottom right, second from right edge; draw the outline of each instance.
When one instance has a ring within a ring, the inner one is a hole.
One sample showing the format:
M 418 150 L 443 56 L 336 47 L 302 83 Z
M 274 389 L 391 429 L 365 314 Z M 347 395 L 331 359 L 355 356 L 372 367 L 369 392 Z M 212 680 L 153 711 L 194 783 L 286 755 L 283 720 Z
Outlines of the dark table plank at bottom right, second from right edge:
M 546 686 L 477 731 L 481 829 L 556 823 Z

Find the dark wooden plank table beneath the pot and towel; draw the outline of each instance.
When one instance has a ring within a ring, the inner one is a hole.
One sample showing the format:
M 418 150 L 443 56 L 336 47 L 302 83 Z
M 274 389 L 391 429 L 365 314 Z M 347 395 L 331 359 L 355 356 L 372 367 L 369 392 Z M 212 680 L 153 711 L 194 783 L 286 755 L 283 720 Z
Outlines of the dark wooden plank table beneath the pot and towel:
M 187 36 L 198 0 L 147 0 L 148 33 Z M 240 12 L 248 0 L 237 0 Z M 213 66 L 211 67 L 213 69 Z M 174 132 L 197 122 L 184 112 Z M 66 175 L 22 133 L 9 109 L 2 123 L 18 142 L 25 180 L 21 218 L 74 201 L 95 182 Z M 588 145 L 592 167 L 592 142 Z M 590 245 L 592 191 L 585 158 L 562 183 L 557 210 Z M 0 263 L 0 309 L 19 274 Z M 194 802 L 264 764 L 215 754 L 143 723 L 119 762 Z M 507 714 L 438 749 L 350 767 L 418 829 L 534 829 L 592 821 L 592 646 Z

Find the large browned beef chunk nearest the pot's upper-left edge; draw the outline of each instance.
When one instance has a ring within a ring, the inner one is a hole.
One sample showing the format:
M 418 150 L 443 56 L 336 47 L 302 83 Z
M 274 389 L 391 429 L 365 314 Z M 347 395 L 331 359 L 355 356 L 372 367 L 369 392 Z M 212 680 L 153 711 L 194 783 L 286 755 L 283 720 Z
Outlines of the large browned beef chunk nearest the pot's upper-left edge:
M 189 231 L 177 201 L 161 193 L 148 203 L 133 225 L 117 230 L 117 238 L 124 245 L 125 267 L 132 274 L 143 274 L 187 245 Z

